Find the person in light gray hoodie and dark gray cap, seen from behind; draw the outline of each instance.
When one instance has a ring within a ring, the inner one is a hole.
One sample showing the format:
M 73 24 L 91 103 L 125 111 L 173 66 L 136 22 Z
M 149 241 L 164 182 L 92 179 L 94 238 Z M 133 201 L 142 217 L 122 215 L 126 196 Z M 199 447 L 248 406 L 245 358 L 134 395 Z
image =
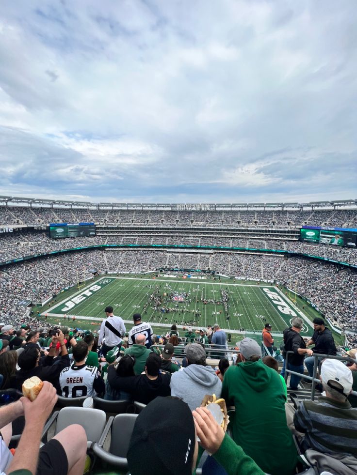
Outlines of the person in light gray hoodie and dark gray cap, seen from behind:
M 188 366 L 171 376 L 171 395 L 187 402 L 191 411 L 201 405 L 206 394 L 221 396 L 222 382 L 211 366 L 206 366 L 206 352 L 198 343 L 186 347 Z

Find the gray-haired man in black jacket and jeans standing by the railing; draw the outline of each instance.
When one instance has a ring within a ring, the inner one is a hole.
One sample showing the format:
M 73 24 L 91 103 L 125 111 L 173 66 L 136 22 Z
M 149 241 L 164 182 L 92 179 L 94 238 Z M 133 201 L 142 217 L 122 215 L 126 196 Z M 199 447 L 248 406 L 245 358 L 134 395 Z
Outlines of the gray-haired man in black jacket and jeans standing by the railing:
M 312 355 L 312 350 L 306 348 L 305 341 L 301 337 L 300 332 L 303 327 L 303 319 L 294 317 L 292 319 L 292 326 L 285 328 L 283 332 L 284 349 L 286 352 L 292 351 L 294 354 L 288 356 L 288 368 L 296 373 L 304 374 L 304 355 Z M 290 375 L 290 389 L 296 391 L 301 378 L 295 374 Z M 284 380 L 285 383 L 285 380 Z

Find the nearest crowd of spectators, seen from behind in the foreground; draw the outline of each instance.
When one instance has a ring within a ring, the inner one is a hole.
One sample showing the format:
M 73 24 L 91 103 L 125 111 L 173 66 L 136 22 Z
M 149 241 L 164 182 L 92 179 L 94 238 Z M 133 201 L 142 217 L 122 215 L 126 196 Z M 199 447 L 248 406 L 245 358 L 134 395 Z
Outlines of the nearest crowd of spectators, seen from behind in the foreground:
M 202 335 L 205 331 L 193 341 L 188 332 L 179 346 L 173 325 L 162 346 L 157 346 L 156 336 L 140 314 L 133 315 L 133 322 L 133 329 L 126 333 L 122 319 L 114 315 L 112 306 L 107 306 L 98 336 L 67 326 L 39 328 L 36 320 L 21 325 L 18 321 L 16 326 L 0 323 L 1 390 L 21 390 L 24 381 L 34 376 L 43 382 L 32 402 L 20 398 L 0 407 L 1 473 L 71 475 L 82 474 L 85 466 L 88 470 L 86 433 L 81 426 L 69 425 L 38 453 L 42 429 L 58 396 L 96 396 L 144 405 L 127 452 L 131 475 L 144 473 L 138 454 L 146 462 L 155 458 L 145 473 L 191 474 L 200 463 L 203 449 L 207 451 L 202 459 L 203 474 L 296 474 L 303 469 L 297 447 L 317 474 L 323 470 L 354 473 L 357 403 L 350 393 L 357 388 L 357 360 L 349 366 L 324 360 L 320 367 L 323 395 L 316 401 L 303 401 L 293 412 L 291 406 L 287 408 L 286 385 L 273 364 L 274 358 L 262 358 L 255 340 L 246 337 L 240 342 L 235 364 L 229 364 L 225 352 L 217 355 L 220 365 L 214 370 L 208 362 L 211 349 Z M 302 323 L 302 319 L 295 318 L 287 331 L 298 335 Z M 322 323 L 316 320 L 316 335 L 325 331 Z M 217 324 L 211 331 L 207 331 L 211 347 L 224 349 L 221 343 L 226 342 L 225 333 Z M 318 352 L 322 345 L 319 341 L 314 334 L 311 342 L 315 350 L 303 353 Z M 305 343 L 302 345 L 305 348 Z M 178 349 L 180 358 L 174 356 Z M 214 403 L 218 399 L 222 401 L 218 406 L 221 415 L 214 411 L 214 404 L 212 409 L 207 405 L 208 400 Z M 230 413 L 229 433 L 225 430 L 227 406 L 235 407 L 235 413 Z M 7 448 L 9 423 L 20 416 L 25 417 L 25 425 L 13 454 Z M 269 436 L 267 425 L 273 429 Z M 332 426 L 339 430 L 338 440 L 331 432 Z M 114 442 L 120 444 L 120 440 Z M 167 454 L 173 455 L 168 459 Z

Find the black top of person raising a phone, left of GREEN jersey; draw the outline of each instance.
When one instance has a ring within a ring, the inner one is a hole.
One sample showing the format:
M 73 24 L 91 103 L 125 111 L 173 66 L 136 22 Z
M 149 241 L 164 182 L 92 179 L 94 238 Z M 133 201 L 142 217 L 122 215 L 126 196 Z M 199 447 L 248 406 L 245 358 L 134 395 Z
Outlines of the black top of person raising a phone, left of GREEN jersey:
M 37 376 L 41 381 L 49 381 L 56 388 L 57 394 L 62 395 L 59 376 L 62 369 L 69 366 L 69 356 L 65 354 L 53 361 L 53 356 L 46 356 L 42 365 L 32 369 L 19 369 L 16 372 L 16 389 L 22 391 L 23 382 Z

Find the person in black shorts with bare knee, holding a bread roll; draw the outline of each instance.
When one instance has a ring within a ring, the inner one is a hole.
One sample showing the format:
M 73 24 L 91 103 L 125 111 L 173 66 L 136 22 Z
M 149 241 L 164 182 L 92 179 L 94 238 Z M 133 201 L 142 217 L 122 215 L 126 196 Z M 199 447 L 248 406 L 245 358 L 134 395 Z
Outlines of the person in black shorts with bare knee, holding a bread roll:
M 45 381 L 37 398 L 21 398 L 0 408 L 0 428 L 25 416 L 25 428 L 14 457 L 0 438 L 0 471 L 7 474 L 82 474 L 86 460 L 87 437 L 73 424 L 61 430 L 40 449 L 44 425 L 57 401 L 56 390 Z M 2 429 L 1 429 L 2 432 Z

